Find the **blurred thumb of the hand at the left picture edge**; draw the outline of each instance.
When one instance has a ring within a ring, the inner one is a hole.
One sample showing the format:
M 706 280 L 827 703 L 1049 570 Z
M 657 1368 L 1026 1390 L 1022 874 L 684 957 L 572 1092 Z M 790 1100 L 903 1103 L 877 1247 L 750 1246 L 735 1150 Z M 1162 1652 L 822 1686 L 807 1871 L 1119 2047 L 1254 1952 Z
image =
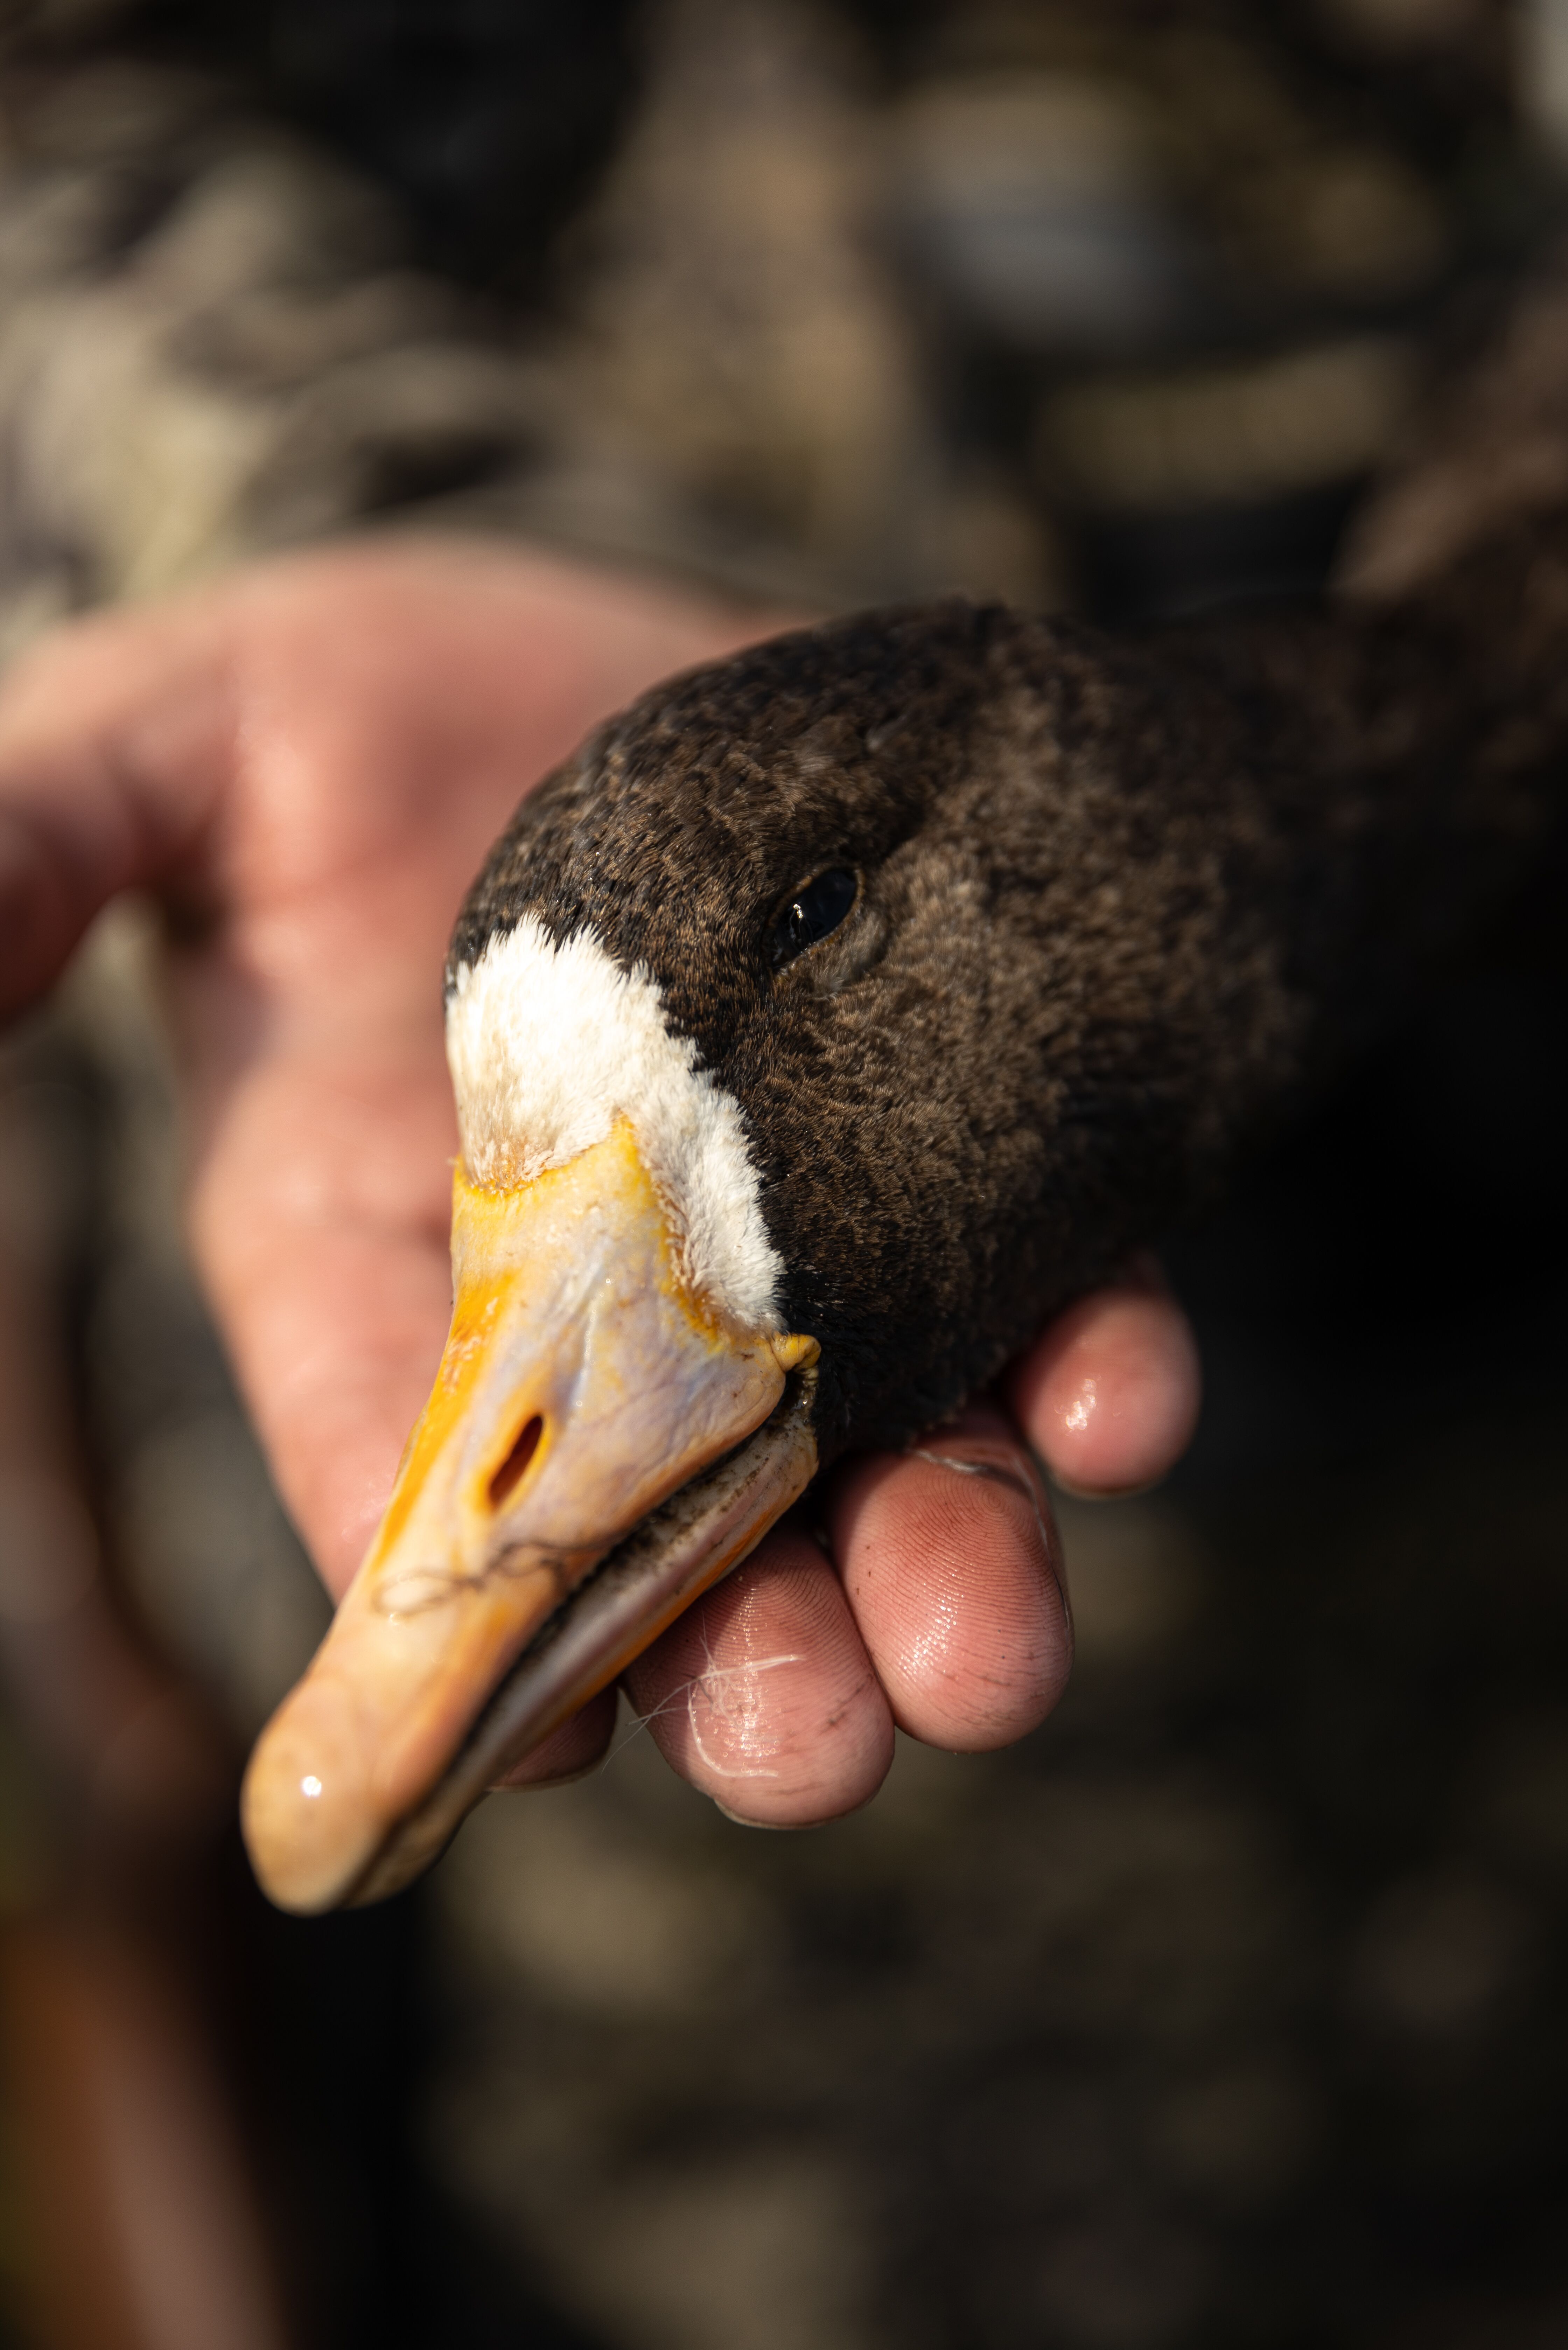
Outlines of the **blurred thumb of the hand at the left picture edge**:
M 0 1018 L 120 891 L 190 867 L 235 747 L 207 602 L 61 627 L 0 686 Z

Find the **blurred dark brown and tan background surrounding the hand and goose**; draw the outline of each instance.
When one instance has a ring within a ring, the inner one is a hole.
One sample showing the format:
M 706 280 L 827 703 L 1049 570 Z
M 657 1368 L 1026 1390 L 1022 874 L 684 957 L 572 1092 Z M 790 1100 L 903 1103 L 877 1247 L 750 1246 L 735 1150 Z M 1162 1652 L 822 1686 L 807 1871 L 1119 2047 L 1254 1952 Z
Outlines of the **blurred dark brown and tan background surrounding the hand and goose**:
M 1324 583 L 1568 212 L 1563 0 L 7 0 L 0 651 L 362 529 L 820 606 Z M 381 1911 L 233 1831 L 324 1624 L 153 926 L 0 1050 L 0 2334 L 1568 2338 L 1561 884 L 1213 1222 L 1079 1671 L 745 1835 L 635 1723 Z

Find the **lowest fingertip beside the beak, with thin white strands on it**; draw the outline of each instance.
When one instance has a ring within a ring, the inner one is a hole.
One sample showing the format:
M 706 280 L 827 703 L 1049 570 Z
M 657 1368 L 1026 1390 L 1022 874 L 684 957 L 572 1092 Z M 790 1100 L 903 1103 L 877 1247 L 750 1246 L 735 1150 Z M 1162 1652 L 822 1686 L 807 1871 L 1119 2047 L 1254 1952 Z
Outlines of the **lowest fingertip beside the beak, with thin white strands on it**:
M 792 1518 L 637 1659 L 625 1687 L 665 1760 L 752 1826 L 853 1812 L 893 1760 L 893 1720 L 839 1579 Z

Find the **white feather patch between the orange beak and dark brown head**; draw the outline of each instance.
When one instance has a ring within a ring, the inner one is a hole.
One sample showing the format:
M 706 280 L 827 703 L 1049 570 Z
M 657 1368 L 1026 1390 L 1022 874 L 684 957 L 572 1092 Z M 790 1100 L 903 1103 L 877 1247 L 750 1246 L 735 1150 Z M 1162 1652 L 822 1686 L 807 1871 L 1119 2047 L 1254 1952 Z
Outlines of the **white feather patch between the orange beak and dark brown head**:
M 783 1264 L 741 1109 L 670 1034 L 642 964 L 623 971 L 590 931 L 557 947 L 524 914 L 458 966 L 447 1062 L 470 1182 L 531 1182 L 628 1119 L 691 1285 L 748 1328 L 778 1330 Z

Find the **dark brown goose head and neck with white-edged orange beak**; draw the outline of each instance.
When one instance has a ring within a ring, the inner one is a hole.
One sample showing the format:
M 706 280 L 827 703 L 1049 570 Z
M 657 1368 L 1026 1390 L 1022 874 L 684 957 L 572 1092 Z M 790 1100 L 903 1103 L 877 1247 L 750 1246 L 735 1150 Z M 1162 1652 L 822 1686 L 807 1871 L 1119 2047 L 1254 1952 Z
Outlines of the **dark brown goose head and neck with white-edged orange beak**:
M 275 1899 L 404 1882 L 818 1466 L 985 1384 L 1500 902 L 1556 797 L 1568 489 L 1462 475 L 1394 496 L 1359 602 L 839 620 L 522 804 L 447 973 L 447 1354 L 247 1781 Z

